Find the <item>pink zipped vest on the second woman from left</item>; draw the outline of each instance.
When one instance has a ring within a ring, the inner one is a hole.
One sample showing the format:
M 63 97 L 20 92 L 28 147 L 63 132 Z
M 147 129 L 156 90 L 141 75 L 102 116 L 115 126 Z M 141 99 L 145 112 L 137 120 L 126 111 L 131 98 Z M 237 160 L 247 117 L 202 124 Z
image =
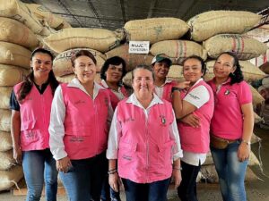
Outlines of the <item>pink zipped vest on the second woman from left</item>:
M 78 160 L 99 155 L 108 147 L 108 91 L 93 100 L 80 88 L 61 84 L 65 102 L 65 152 Z

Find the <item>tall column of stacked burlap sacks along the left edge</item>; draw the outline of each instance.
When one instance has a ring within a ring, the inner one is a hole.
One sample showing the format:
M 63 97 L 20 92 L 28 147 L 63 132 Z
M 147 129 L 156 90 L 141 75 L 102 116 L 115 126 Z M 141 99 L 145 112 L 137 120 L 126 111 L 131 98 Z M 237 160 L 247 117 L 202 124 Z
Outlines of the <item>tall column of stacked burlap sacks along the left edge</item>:
M 22 166 L 13 160 L 9 99 L 13 86 L 29 73 L 29 49 L 39 41 L 28 27 L 11 18 L 0 17 L 0 30 L 0 190 L 4 190 L 23 177 Z

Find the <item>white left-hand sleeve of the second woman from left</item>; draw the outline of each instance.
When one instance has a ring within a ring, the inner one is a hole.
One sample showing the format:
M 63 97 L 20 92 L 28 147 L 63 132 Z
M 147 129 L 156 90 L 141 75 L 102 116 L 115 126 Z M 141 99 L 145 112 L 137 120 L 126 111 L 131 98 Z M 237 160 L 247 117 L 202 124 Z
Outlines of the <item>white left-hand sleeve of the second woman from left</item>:
M 51 105 L 49 131 L 49 147 L 53 157 L 56 160 L 67 156 L 65 152 L 64 136 L 65 136 L 65 102 L 63 98 L 62 88 L 56 88 L 55 95 Z

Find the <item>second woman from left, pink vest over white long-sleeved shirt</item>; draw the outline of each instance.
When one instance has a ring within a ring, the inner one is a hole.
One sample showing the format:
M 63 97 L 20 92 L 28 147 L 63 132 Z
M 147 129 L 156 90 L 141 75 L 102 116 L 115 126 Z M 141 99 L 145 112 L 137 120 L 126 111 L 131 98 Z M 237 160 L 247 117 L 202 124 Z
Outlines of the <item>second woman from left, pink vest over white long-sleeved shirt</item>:
M 94 82 L 94 56 L 82 50 L 71 61 L 75 78 L 56 88 L 51 107 L 50 150 L 69 199 L 100 201 L 113 110 L 108 90 Z

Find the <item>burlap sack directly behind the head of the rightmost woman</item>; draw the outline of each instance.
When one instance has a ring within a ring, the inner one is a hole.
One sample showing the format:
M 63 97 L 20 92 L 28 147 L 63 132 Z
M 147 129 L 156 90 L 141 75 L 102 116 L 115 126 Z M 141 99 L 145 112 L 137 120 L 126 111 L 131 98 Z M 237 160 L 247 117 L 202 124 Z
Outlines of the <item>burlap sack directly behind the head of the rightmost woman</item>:
M 209 61 L 206 63 L 207 71 L 205 73 L 205 80 L 211 80 L 214 77 L 213 66 L 215 61 Z M 247 82 L 253 80 L 259 80 L 265 78 L 265 72 L 259 70 L 255 65 L 248 61 L 239 61 L 241 70 L 243 72 L 244 80 Z

